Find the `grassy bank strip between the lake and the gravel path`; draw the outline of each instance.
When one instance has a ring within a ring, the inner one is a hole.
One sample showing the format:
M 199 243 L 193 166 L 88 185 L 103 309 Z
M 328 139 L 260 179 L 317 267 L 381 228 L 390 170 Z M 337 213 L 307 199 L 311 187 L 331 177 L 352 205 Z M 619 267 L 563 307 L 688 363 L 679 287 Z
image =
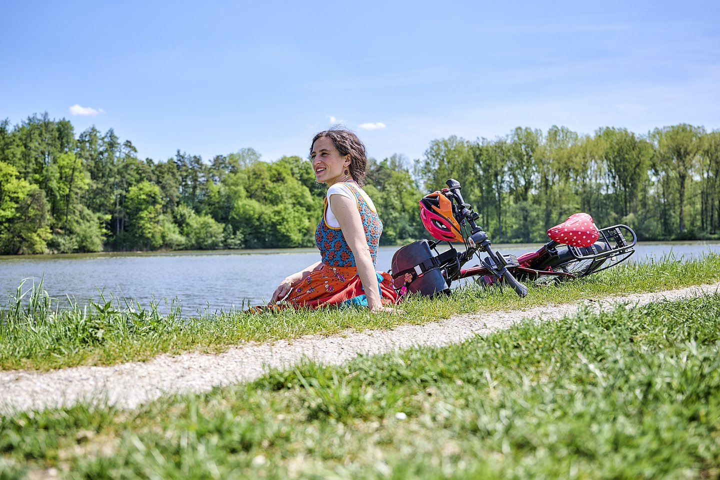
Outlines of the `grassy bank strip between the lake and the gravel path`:
M 287 310 L 246 314 L 208 312 L 184 317 L 171 305 L 161 314 L 157 303 L 141 307 L 126 299 L 101 297 L 88 305 L 59 302 L 42 283 L 22 286 L 0 308 L 0 369 L 48 370 L 77 365 L 105 365 L 145 360 L 160 353 L 189 350 L 217 352 L 246 341 L 332 335 L 342 330 L 387 329 L 402 323 L 422 324 L 467 312 L 523 309 L 541 304 L 597 299 L 641 291 L 674 289 L 718 281 L 720 255 L 693 261 L 672 258 L 618 266 L 559 286 L 531 286 L 528 296 L 511 289 L 477 286 L 456 289 L 449 297 L 409 299 L 402 314 L 372 315 L 366 309 Z

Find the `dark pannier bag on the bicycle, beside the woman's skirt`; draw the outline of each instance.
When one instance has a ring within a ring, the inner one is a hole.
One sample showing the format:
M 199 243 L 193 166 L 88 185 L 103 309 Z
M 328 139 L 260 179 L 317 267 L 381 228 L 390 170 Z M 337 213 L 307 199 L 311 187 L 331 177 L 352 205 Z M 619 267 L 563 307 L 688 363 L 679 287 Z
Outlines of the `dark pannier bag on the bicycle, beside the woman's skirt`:
M 405 286 L 411 293 L 433 296 L 449 293 L 450 288 L 433 255 L 428 240 L 405 245 L 392 255 L 392 286 L 396 290 Z

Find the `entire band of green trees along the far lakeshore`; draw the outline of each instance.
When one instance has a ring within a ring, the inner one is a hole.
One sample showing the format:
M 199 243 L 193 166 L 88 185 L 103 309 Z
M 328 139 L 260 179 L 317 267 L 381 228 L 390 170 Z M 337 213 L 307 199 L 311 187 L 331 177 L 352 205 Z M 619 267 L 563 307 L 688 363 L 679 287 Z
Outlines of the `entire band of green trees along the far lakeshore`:
M 584 211 L 642 239 L 718 237 L 720 132 L 679 124 L 648 135 L 606 127 L 518 127 L 494 140 L 433 140 L 423 158 L 370 159 L 366 190 L 382 243 L 427 237 L 423 193 L 456 178 L 495 242 L 542 241 Z M 0 122 L 0 253 L 292 248 L 314 244 L 325 187 L 307 157 L 252 148 L 138 158 L 130 140 L 33 115 Z

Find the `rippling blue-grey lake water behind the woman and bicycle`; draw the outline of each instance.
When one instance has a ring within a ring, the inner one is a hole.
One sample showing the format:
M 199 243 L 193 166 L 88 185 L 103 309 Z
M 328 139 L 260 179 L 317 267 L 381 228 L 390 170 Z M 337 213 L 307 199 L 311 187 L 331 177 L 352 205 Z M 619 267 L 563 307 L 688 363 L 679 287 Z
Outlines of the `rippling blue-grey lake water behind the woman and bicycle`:
M 540 245 L 494 245 L 502 253 L 525 253 Z M 387 271 L 397 247 L 379 248 L 377 268 Z M 720 243 L 639 243 L 632 261 L 672 254 L 693 258 L 720 253 Z M 222 250 L 172 253 L 96 253 L 73 255 L 0 256 L 0 307 L 14 295 L 43 279 L 50 296 L 70 296 L 80 303 L 106 295 L 137 299 L 148 307 L 152 296 L 178 299 L 185 314 L 263 303 L 289 273 L 320 260 L 315 248 L 292 250 Z M 33 280 L 34 279 L 34 280 Z

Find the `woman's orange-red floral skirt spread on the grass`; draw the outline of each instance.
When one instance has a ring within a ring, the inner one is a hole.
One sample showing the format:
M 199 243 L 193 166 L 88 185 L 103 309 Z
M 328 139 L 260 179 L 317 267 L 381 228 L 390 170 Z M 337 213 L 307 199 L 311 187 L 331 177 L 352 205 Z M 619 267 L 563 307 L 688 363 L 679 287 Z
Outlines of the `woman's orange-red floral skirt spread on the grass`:
M 376 272 L 383 305 L 395 304 L 399 296 L 388 273 Z M 329 305 L 367 305 L 362 282 L 355 267 L 333 267 L 326 263 L 294 286 L 284 302 L 271 309 L 328 307 Z M 264 307 L 255 307 L 262 310 Z

